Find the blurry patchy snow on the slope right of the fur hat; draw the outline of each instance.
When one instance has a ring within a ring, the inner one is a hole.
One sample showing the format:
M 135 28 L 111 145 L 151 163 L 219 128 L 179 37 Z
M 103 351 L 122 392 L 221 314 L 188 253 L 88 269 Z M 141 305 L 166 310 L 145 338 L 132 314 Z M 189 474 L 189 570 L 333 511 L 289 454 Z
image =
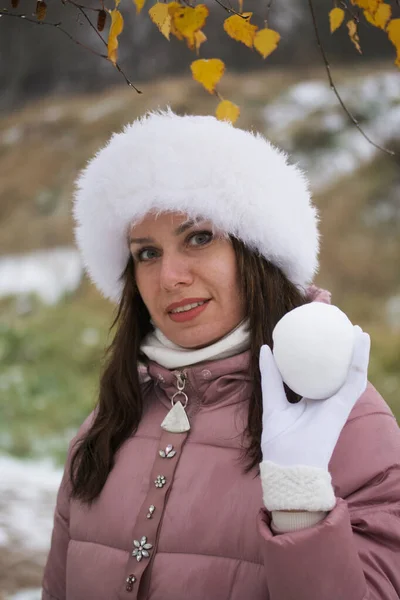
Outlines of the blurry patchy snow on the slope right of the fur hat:
M 362 130 L 383 145 L 400 131 L 400 78 L 385 72 L 354 78 L 336 86 Z M 358 131 L 341 108 L 326 80 L 290 87 L 264 109 L 265 133 L 290 152 L 308 173 L 316 190 L 329 187 L 338 177 L 367 164 L 378 152 Z M 306 122 L 314 119 L 314 125 Z M 303 123 L 306 127 L 303 127 Z M 302 148 L 302 136 L 319 139 Z M 299 133 L 300 131 L 300 133 Z M 296 137 L 297 136 L 297 137 Z

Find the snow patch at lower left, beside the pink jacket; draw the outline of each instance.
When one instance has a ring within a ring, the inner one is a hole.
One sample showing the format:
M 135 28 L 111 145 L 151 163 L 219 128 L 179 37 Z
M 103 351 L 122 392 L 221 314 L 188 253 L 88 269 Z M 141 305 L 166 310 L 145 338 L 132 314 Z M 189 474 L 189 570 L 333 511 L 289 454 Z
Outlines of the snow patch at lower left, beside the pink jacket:
M 62 469 L 0 456 L 0 546 L 46 553 Z

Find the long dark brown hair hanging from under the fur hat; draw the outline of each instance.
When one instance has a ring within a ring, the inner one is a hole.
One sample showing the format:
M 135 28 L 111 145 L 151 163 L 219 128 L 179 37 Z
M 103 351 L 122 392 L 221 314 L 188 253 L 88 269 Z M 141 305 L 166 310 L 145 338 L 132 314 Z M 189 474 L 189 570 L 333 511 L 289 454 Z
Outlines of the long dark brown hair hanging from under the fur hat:
M 259 354 L 263 344 L 273 347 L 272 332 L 290 310 L 309 300 L 282 271 L 244 243 L 229 236 L 236 254 L 238 285 L 250 326 L 250 375 L 253 391 L 249 401 L 244 469 L 250 471 L 262 460 L 262 395 Z M 122 444 L 139 426 L 143 397 L 137 369 L 145 360 L 140 351 L 143 338 L 152 331 L 150 314 L 135 283 L 135 268 L 130 257 L 122 274 L 123 292 L 110 330 L 114 338 L 105 352 L 100 378 L 99 398 L 91 426 L 75 443 L 69 468 L 71 495 L 91 504 L 100 494 Z M 289 388 L 289 402 L 300 397 Z

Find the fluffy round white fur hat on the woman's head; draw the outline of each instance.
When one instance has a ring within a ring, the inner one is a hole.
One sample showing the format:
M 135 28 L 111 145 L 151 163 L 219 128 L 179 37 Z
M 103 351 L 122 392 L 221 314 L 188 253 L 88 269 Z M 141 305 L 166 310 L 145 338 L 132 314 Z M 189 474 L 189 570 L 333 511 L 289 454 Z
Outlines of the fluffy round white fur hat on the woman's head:
M 89 277 L 115 302 L 128 230 L 149 211 L 211 220 L 299 287 L 318 269 L 318 214 L 304 173 L 261 134 L 215 117 L 148 113 L 114 134 L 78 177 L 76 242 Z

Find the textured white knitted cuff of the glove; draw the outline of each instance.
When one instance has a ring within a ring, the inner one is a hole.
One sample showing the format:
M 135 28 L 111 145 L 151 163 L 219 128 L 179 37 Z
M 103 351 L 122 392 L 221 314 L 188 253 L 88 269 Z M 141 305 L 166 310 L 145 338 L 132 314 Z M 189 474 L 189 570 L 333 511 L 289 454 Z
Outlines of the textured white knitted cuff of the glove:
M 328 511 L 336 504 L 329 471 L 320 467 L 260 464 L 264 505 L 273 510 Z

